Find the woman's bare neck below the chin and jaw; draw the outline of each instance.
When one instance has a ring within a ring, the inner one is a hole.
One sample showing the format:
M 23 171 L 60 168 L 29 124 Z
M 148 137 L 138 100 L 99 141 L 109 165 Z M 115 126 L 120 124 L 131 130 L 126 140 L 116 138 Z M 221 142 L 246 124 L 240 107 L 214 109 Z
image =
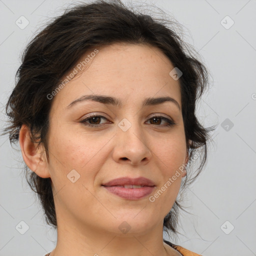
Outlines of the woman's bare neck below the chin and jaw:
M 59 223 L 60 222 L 60 223 Z M 49 256 L 177 255 L 163 242 L 162 223 L 143 233 L 109 233 L 95 226 L 58 221 L 57 244 Z

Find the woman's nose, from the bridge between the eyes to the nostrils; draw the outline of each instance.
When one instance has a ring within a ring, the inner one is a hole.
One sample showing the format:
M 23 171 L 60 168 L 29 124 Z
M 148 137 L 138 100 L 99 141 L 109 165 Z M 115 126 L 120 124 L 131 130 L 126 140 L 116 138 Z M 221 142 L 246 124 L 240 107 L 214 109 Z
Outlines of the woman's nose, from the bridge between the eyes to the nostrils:
M 139 124 L 133 123 L 126 131 L 117 128 L 113 159 L 131 165 L 146 164 L 152 157 L 149 141 Z

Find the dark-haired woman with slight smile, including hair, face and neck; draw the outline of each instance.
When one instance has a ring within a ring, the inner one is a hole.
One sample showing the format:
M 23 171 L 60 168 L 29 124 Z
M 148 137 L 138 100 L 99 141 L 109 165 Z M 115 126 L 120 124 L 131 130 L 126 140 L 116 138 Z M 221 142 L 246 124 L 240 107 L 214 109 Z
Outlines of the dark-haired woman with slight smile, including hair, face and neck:
M 180 186 L 206 160 L 207 75 L 173 30 L 119 1 L 77 5 L 35 36 L 5 132 L 57 228 L 47 256 L 198 255 L 162 232 L 175 234 Z

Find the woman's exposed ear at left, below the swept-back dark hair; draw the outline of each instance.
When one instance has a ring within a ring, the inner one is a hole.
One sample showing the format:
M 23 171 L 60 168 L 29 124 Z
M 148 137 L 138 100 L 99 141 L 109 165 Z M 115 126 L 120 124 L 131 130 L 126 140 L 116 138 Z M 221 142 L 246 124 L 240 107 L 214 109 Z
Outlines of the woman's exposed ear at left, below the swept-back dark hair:
M 45 149 L 30 139 L 30 130 L 22 124 L 19 131 L 19 145 L 27 167 L 42 178 L 50 177 Z

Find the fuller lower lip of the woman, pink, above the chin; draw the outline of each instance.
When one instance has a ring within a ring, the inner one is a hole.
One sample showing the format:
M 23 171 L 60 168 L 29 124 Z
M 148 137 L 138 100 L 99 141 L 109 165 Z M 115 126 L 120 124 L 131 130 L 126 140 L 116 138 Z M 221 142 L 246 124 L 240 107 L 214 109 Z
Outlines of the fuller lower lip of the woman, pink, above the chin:
M 143 186 L 139 188 L 124 188 L 120 186 L 103 186 L 109 192 L 129 200 L 137 200 L 145 197 L 154 190 L 154 186 Z

